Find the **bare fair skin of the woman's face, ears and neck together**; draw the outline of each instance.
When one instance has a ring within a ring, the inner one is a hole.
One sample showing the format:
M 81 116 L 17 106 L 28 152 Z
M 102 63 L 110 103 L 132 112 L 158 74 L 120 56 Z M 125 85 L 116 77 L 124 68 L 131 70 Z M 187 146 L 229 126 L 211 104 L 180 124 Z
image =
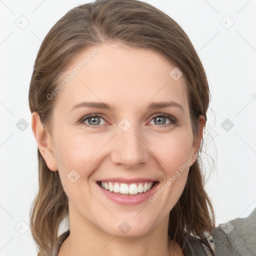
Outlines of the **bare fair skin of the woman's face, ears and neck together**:
M 78 55 L 63 77 L 95 47 Z M 97 49 L 99 53 L 58 93 L 51 132 L 41 125 L 36 112 L 32 114 L 38 148 L 49 169 L 59 171 L 68 196 L 70 235 L 58 256 L 182 255 L 181 248 L 168 238 L 167 226 L 188 168 L 154 202 L 132 206 L 108 199 L 96 181 L 154 178 L 159 181 L 157 191 L 198 151 L 204 117 L 200 115 L 199 137 L 193 143 L 185 79 L 170 77 L 174 65 L 159 54 L 117 43 L 104 43 Z M 179 103 L 184 111 L 173 106 L 146 109 L 151 102 L 167 100 Z M 81 101 L 103 101 L 114 109 L 69 111 Z M 162 113 L 177 122 L 167 117 L 164 122 L 163 117 L 163 124 L 158 124 L 152 116 Z M 79 123 L 88 114 L 102 114 L 100 124 L 93 126 L 91 119 L 90 124 L 88 119 Z M 126 131 L 118 126 L 123 118 L 131 124 Z M 72 169 L 80 175 L 74 183 L 66 176 Z M 126 234 L 118 228 L 123 221 L 131 227 Z

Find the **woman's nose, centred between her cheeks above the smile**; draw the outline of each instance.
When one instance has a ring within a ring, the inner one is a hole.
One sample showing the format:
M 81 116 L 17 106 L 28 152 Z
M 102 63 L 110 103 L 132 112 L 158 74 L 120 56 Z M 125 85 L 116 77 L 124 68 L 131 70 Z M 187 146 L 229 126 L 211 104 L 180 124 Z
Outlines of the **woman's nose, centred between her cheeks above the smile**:
M 147 162 L 150 150 L 144 140 L 145 136 L 134 125 L 126 131 L 117 127 L 117 134 L 112 141 L 112 162 L 130 169 Z

